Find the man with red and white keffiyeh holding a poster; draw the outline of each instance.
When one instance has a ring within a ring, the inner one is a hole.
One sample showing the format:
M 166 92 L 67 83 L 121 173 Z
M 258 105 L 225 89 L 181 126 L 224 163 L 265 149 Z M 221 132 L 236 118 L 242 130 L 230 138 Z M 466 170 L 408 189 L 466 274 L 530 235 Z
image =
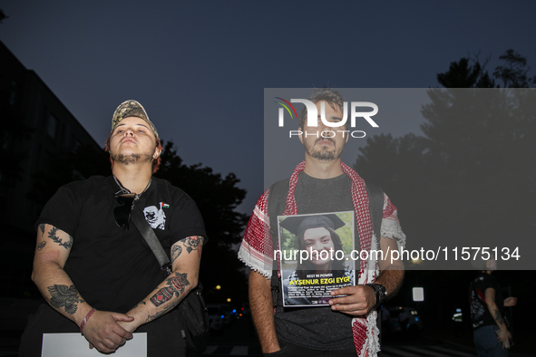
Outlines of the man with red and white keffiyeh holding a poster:
M 305 148 L 305 161 L 297 165 L 291 177 L 286 181 L 285 209 L 277 216 L 309 215 L 312 220 L 323 221 L 323 217 L 334 212 L 351 211 L 352 225 L 356 227 L 354 249 L 367 253 L 380 249 L 384 255 L 378 257 L 377 260 L 374 255 L 368 255 L 367 259 L 350 262 L 356 264 L 356 269 L 352 272 L 354 275 L 352 280 L 355 282 L 349 286 L 335 288 L 329 292 L 329 297 L 317 301 L 324 303 L 328 300 L 327 304 L 318 307 L 285 307 L 285 289 L 281 288 L 281 283 L 285 280 L 281 275 L 283 260 L 278 261 L 279 269 L 274 270 L 272 274 L 271 262 L 274 258 L 279 260 L 280 256 L 274 256 L 274 250 L 278 247 L 272 243 L 273 232 L 278 235 L 278 229 L 272 229 L 270 232 L 268 198 L 271 192 L 268 189 L 258 199 L 239 249 L 239 259 L 251 269 L 249 275 L 251 314 L 258 331 L 262 352 L 265 355 L 355 356 L 357 354 L 373 356 L 380 349 L 376 308 L 385 301 L 385 298 L 396 293 L 404 278 L 403 263 L 398 260 L 391 261 L 386 252 L 388 249 L 398 250 L 403 247 L 405 236 L 398 223 L 396 207 L 386 196 L 384 196 L 380 235 L 376 237 L 373 234 L 365 181 L 340 159 L 348 136 L 344 136 L 343 130 L 337 131 L 336 135 L 331 138 L 318 135 L 318 131 L 330 129 L 326 121 L 331 123 L 344 121 L 344 98 L 333 89 L 324 88 L 313 92 L 308 100 L 317 106 L 318 125 L 316 127 L 307 125 L 307 109 L 304 108 L 299 116 L 299 132 L 302 134 L 298 137 Z M 320 121 L 321 115 L 324 115 L 324 121 Z M 346 121 L 346 129 L 348 126 L 349 123 Z M 315 218 L 313 214 L 319 215 Z M 279 217 L 279 222 L 281 222 L 281 217 Z M 298 226 L 303 222 L 305 226 L 311 223 L 303 219 Z M 337 228 L 333 221 L 331 225 L 333 227 L 330 229 L 335 231 Z M 328 222 L 320 222 L 319 225 L 317 222 L 308 228 L 315 228 L 318 231 L 322 230 L 320 228 L 329 226 Z M 297 229 L 298 236 L 300 230 L 306 234 L 308 228 L 302 228 L 305 229 Z M 329 231 L 329 229 L 326 230 Z M 326 235 L 324 237 L 326 245 L 329 245 Z M 332 235 L 330 239 L 332 243 L 336 240 Z M 306 243 L 307 240 L 303 242 Z M 312 246 L 317 243 L 313 241 L 307 244 Z M 332 249 L 336 251 L 335 244 L 332 246 Z M 284 246 L 279 247 L 280 250 L 284 248 Z M 310 250 L 314 251 L 316 248 Z M 336 257 L 330 256 L 329 259 L 332 260 L 330 265 L 336 265 Z M 323 261 L 323 259 L 316 258 L 314 260 L 317 260 L 317 263 Z M 321 270 L 325 268 L 326 266 L 317 265 L 315 273 L 309 274 L 314 274 L 314 277 L 307 279 L 306 273 L 306 279 L 296 277 L 293 280 L 304 280 L 305 286 L 308 283 L 307 280 L 322 279 L 320 276 L 317 278 L 316 275 L 332 274 L 331 272 L 321 273 Z M 298 272 L 297 268 L 296 275 Z M 276 301 L 271 294 L 272 275 L 278 282 L 279 293 Z M 289 276 L 287 280 L 288 287 L 290 286 Z M 309 301 L 310 298 L 306 296 Z

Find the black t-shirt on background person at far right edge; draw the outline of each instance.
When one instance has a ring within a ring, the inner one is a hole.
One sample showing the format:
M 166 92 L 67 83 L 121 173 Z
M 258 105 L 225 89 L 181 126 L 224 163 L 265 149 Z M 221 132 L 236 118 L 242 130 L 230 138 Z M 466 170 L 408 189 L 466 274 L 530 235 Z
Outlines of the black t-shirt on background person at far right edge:
M 497 305 L 499 312 L 504 316 L 502 312 L 504 308 L 504 300 L 502 299 L 501 285 L 499 285 L 495 276 L 481 273 L 473 280 L 471 285 L 469 285 L 471 323 L 473 323 L 473 330 L 482 326 L 496 324 L 486 305 L 485 291 L 488 288 L 495 290 L 495 304 Z

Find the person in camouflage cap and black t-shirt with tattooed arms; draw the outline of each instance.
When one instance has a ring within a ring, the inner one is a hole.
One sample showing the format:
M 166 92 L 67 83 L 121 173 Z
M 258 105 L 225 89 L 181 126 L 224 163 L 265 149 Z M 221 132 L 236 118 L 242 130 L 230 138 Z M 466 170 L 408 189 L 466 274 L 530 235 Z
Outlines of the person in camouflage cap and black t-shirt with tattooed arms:
M 180 188 L 152 177 L 161 141 L 138 101 L 113 113 L 106 150 L 112 176 L 63 186 L 35 223 L 32 278 L 48 304 L 26 328 L 19 356 L 40 356 L 44 333 L 77 332 L 85 348 L 100 352 L 128 346 L 136 332 L 147 333 L 149 356 L 185 355 L 184 322 L 174 308 L 198 284 L 206 242 L 200 212 Z M 133 215 L 158 237 L 171 275 L 162 273 Z

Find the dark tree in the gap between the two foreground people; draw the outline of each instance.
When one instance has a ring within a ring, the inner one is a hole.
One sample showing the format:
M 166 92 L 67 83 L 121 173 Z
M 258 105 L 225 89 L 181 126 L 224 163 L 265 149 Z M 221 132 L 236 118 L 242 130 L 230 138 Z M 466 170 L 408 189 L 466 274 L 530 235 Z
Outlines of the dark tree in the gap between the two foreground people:
M 165 178 L 183 189 L 200 208 L 209 244 L 203 247 L 200 280 L 205 285 L 208 300 L 223 303 L 230 297 L 241 301 L 247 296 L 243 265 L 239 262 L 236 245 L 248 223 L 248 216 L 236 212 L 246 197 L 246 190 L 236 187 L 239 178 L 229 173 L 225 178 L 200 164 L 184 165 L 170 141 L 161 155 L 161 169 L 155 176 Z M 214 289 L 222 286 L 220 291 Z

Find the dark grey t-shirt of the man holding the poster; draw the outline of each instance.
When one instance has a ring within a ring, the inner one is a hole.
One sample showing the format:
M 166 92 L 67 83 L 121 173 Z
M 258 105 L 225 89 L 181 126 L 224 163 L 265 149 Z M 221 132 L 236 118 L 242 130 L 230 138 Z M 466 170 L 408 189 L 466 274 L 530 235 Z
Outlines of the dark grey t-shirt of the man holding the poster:
M 295 191 L 297 213 L 300 215 L 353 211 L 352 180 L 346 174 L 336 178 L 312 178 L 298 174 Z M 359 239 L 357 237 L 356 241 Z M 356 249 L 359 249 L 356 246 Z M 312 349 L 347 350 L 354 348 L 352 316 L 334 312 L 329 306 L 283 308 L 278 297 L 274 315 L 278 338 Z

